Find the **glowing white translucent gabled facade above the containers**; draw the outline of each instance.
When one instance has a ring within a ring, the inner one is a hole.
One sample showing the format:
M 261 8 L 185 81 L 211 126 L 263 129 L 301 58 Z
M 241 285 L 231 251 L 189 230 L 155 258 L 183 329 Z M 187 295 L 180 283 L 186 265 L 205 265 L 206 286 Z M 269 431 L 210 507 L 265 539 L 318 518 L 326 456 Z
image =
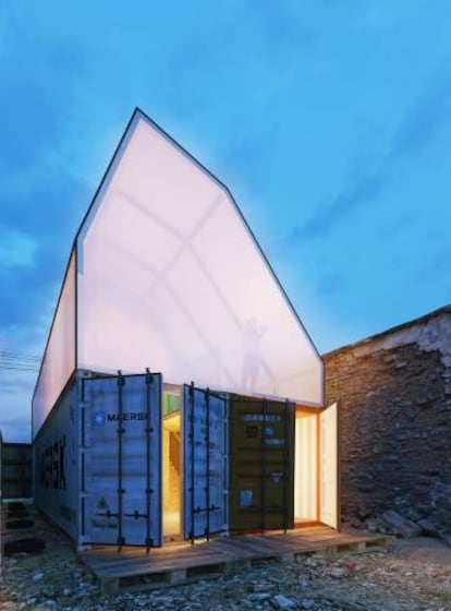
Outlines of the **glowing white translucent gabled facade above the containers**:
M 229 191 L 139 110 L 75 248 L 77 369 L 322 405 L 321 359 Z M 73 369 L 56 364 L 59 318 L 36 426 Z

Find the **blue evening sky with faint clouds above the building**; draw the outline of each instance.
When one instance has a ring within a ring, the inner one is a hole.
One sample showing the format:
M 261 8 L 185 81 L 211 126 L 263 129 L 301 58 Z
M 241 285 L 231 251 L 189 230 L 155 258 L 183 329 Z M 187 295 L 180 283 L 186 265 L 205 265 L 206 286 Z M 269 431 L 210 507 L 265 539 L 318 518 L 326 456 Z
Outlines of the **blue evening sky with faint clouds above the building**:
M 0 350 L 41 355 L 135 106 L 229 185 L 320 351 L 449 303 L 450 31 L 444 0 L 3 3 Z M 0 375 L 26 441 L 36 373 Z

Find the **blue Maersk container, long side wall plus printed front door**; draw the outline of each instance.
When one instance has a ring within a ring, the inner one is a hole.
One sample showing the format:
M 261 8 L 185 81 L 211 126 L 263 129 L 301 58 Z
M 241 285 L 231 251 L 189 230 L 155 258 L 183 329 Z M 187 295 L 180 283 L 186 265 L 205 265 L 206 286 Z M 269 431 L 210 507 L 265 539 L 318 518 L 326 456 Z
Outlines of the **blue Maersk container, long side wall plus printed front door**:
M 161 544 L 161 376 L 71 383 L 33 445 L 36 505 L 77 544 Z

